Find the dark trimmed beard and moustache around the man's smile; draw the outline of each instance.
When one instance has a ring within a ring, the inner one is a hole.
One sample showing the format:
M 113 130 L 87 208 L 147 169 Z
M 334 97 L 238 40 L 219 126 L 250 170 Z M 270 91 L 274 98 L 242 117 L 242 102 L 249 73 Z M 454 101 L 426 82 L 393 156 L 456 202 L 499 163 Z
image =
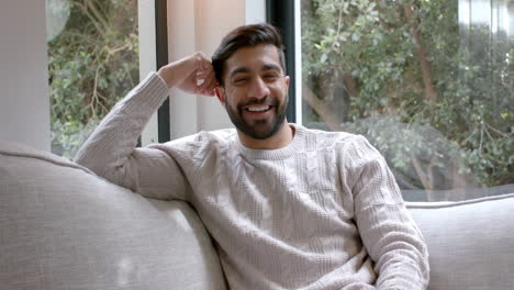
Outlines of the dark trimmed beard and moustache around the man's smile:
M 228 103 L 228 99 L 225 94 L 225 109 L 228 113 L 228 118 L 235 127 L 243 132 L 245 135 L 255 138 L 255 140 L 266 140 L 275 135 L 283 124 L 286 120 L 286 110 L 288 108 L 288 97 L 286 94 L 283 103 L 277 98 L 266 97 L 261 100 L 252 98 L 244 103 L 238 103 L 236 109 Z M 250 104 L 267 104 L 272 105 L 270 110 L 275 110 L 275 115 L 272 119 L 262 119 L 255 120 L 252 123 L 248 123 L 244 118 L 244 107 Z

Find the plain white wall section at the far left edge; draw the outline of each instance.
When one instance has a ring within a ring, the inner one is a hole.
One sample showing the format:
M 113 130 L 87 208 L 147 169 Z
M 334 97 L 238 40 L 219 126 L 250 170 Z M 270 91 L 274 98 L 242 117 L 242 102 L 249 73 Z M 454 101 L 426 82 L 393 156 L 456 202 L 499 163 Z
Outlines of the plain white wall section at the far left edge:
M 0 140 L 51 149 L 45 1 L 0 3 Z

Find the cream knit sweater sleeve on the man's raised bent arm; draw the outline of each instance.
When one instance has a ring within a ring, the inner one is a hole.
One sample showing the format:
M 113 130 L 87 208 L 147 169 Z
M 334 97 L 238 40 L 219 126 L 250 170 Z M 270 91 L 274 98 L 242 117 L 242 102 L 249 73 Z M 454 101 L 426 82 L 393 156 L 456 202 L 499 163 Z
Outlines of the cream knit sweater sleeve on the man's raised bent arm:
M 152 114 L 168 97 L 168 87 L 150 72 L 102 120 L 75 160 L 97 175 L 142 196 L 185 199 L 187 181 L 169 153 L 136 148 Z

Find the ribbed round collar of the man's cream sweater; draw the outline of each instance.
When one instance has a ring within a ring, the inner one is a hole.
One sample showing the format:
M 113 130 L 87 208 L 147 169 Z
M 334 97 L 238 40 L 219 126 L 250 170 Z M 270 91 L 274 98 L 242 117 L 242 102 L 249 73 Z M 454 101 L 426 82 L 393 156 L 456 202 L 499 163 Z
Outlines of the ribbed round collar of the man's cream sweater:
M 239 150 L 239 153 L 245 156 L 246 158 L 249 159 L 286 159 L 289 156 L 301 152 L 303 148 L 304 144 L 304 138 L 305 138 L 305 127 L 294 124 L 294 123 L 289 123 L 290 126 L 294 129 L 294 137 L 291 143 L 289 143 L 287 146 L 279 148 L 279 149 L 250 149 L 248 147 L 245 147 L 243 143 L 241 143 L 241 140 L 236 136 L 236 147 Z

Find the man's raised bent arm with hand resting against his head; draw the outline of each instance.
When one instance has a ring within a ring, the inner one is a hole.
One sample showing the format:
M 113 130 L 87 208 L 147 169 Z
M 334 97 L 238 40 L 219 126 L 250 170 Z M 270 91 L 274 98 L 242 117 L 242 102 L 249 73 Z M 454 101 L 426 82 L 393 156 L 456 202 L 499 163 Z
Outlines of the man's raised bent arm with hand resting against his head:
M 199 81 L 200 80 L 200 81 Z M 201 53 L 152 72 L 102 120 L 76 156 L 97 175 L 143 196 L 182 198 L 187 181 L 175 159 L 158 148 L 136 148 L 152 114 L 168 97 L 169 88 L 213 94 L 216 86 L 210 60 Z

